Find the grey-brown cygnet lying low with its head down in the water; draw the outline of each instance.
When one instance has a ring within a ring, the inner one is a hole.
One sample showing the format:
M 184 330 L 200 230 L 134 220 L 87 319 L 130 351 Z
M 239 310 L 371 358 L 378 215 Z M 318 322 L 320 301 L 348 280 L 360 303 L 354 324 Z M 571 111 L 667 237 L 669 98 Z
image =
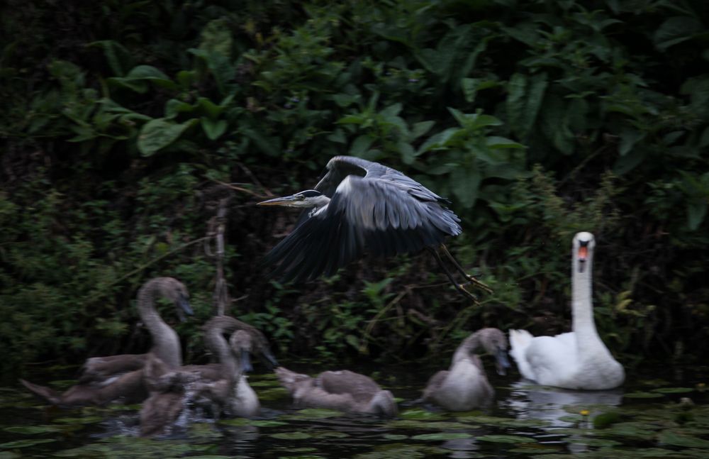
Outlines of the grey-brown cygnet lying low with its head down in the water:
M 296 407 L 328 408 L 389 417 L 398 413 L 393 394 L 359 373 L 326 371 L 313 378 L 278 367 L 276 374 L 281 385 L 291 393 Z

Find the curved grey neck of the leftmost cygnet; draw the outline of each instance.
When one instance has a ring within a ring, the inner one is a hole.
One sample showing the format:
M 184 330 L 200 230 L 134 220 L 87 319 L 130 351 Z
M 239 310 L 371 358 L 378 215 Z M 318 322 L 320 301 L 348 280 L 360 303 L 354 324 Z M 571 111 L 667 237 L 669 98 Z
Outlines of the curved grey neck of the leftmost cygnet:
M 179 367 L 182 365 L 182 348 L 177 333 L 155 309 L 155 298 L 159 294 L 159 282 L 144 285 L 138 292 L 138 314 L 152 336 L 152 352 L 170 367 Z

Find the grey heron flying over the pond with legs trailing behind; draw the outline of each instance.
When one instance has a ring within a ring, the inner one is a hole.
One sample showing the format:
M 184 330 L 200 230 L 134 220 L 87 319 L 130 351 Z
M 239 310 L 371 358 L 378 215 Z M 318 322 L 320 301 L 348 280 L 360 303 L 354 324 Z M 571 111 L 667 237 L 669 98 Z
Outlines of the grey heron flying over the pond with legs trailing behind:
M 462 232 L 460 219 L 445 207 L 449 202 L 391 167 L 335 156 L 315 189 L 258 203 L 308 209 L 263 264 L 276 266 L 272 276 L 298 282 L 333 275 L 364 253 L 389 257 L 428 249 L 454 287 L 477 302 L 454 280 L 440 255 L 468 282 L 491 292 L 468 275 L 443 244 L 447 236 Z

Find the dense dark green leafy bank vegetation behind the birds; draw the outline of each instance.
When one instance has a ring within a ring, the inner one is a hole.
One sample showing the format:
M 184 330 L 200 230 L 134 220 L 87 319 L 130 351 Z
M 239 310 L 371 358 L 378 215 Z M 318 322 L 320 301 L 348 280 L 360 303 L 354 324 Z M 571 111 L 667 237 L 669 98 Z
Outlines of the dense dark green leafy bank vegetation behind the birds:
M 564 331 L 585 230 L 620 360 L 706 356 L 703 0 L 8 0 L 0 45 L 5 376 L 144 350 L 134 297 L 158 275 L 191 289 L 178 327 L 199 359 L 219 223 L 230 312 L 281 355 L 447 358 L 481 326 Z M 494 294 L 470 304 L 427 254 L 269 282 L 257 263 L 297 215 L 253 204 L 337 154 L 449 197 L 452 251 Z

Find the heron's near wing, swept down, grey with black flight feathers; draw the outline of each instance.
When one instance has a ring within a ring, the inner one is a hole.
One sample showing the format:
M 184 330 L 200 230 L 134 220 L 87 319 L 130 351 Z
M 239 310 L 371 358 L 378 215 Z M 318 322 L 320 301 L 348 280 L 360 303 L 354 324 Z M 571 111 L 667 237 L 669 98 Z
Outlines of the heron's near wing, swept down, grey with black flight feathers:
M 342 179 L 330 203 L 266 255 L 264 264 L 278 265 L 272 275 L 312 280 L 333 275 L 365 252 L 412 253 L 461 233 L 457 216 L 442 206 L 444 199 L 401 172 L 377 166 L 382 170 L 375 177 Z

